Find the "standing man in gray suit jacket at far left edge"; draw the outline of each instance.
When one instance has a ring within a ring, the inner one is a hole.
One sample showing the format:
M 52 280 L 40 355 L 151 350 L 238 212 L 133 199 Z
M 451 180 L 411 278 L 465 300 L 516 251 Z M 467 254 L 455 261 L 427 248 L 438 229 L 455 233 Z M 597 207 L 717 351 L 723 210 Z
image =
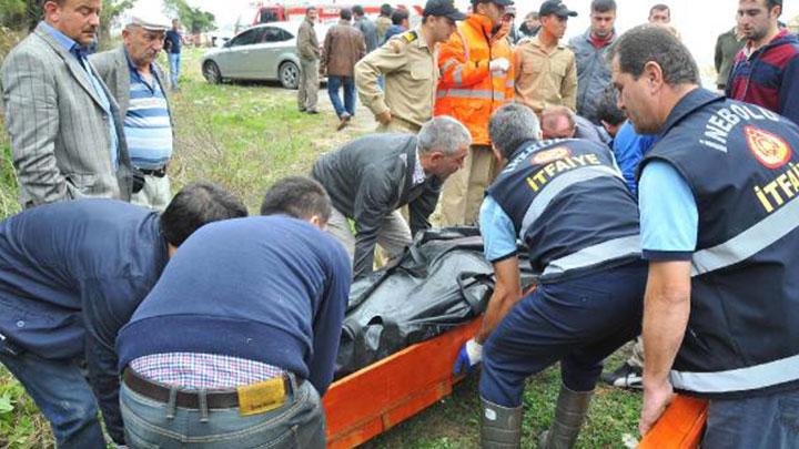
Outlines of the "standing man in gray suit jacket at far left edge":
M 134 188 L 119 108 L 85 58 L 101 3 L 45 1 L 44 20 L 0 69 L 26 207 L 85 196 L 129 201 Z

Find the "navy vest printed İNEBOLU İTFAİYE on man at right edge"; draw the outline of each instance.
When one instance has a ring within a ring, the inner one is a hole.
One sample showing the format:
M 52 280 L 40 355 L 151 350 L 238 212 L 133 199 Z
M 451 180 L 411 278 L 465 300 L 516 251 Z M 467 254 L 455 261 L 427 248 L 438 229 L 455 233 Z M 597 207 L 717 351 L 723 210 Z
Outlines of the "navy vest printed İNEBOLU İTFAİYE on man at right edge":
M 669 164 L 698 210 L 695 248 L 645 246 L 692 264 L 674 386 L 728 398 L 799 388 L 799 127 L 699 89 L 660 136 L 640 170 Z

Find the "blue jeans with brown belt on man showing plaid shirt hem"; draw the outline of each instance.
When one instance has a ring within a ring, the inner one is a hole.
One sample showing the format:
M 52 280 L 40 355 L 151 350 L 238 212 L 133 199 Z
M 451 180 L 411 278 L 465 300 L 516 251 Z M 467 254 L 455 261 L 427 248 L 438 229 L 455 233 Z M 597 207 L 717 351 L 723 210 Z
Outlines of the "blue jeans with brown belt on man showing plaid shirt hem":
M 168 404 L 139 395 L 123 382 L 120 402 L 125 441 L 131 448 L 148 449 L 184 448 L 190 443 L 205 449 L 324 448 L 324 414 L 318 394 L 309 381 L 293 391 L 277 409 L 241 416 L 237 407 L 170 409 Z

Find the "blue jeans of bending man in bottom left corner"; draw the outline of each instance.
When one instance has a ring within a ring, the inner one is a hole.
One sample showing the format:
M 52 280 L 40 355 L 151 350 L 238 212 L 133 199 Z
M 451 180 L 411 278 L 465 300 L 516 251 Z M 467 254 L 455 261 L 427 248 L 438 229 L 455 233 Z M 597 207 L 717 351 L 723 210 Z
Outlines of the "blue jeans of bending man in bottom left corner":
M 13 356 L 2 348 L 0 363 L 50 421 L 59 449 L 105 448 L 94 394 L 77 363 L 48 360 L 31 353 Z

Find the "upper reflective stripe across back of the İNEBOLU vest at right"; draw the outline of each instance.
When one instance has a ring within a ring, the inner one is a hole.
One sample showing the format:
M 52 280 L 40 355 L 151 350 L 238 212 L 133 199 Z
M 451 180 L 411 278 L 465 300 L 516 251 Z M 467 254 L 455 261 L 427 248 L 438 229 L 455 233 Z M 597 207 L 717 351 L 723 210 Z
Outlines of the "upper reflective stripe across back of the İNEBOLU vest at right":
M 799 227 L 799 196 L 727 242 L 694 253 L 691 276 L 744 262 L 797 227 Z

